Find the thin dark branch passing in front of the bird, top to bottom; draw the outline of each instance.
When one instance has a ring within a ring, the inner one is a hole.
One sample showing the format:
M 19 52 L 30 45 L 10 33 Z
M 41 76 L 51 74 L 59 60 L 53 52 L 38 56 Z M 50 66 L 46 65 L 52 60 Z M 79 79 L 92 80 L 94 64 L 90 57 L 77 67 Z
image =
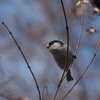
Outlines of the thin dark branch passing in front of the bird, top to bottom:
M 66 33 L 67 33 L 67 57 L 66 57 L 66 59 L 67 59 L 67 63 L 68 63 L 68 53 L 69 53 L 69 28 L 68 28 L 68 22 L 67 22 L 67 17 L 66 17 L 66 12 L 65 12 L 65 8 L 64 8 L 64 3 L 63 3 L 63 0 L 61 0 L 61 5 L 62 5 L 62 9 L 63 9 L 63 13 L 64 13 L 64 18 L 65 18 L 65 24 L 66 24 Z M 56 96 L 57 96 L 57 93 L 58 93 L 58 91 L 59 91 L 59 88 L 60 88 L 60 86 L 61 86 L 61 83 L 63 82 L 63 77 L 64 77 L 64 74 L 65 74 L 65 72 L 66 72 L 66 61 L 65 61 L 65 67 L 64 67 L 64 71 L 63 71 L 63 74 L 62 74 L 62 76 L 61 76 L 61 78 L 60 78 L 60 81 L 59 81 L 59 83 L 58 83 L 58 86 L 57 86 L 57 88 L 56 88 L 56 90 L 55 90 L 55 93 L 54 93 L 54 96 L 53 96 L 53 99 L 52 100 L 55 100 L 56 99 Z

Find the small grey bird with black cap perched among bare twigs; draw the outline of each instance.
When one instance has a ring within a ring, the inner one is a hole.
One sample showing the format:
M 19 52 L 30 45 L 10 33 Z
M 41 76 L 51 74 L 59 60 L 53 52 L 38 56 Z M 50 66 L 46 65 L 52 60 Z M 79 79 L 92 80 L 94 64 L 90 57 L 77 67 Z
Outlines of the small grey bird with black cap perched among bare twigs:
M 73 55 L 71 48 L 69 47 L 68 60 L 67 60 L 67 45 L 65 45 L 63 42 L 61 42 L 59 40 L 53 40 L 47 45 L 47 48 L 53 54 L 53 57 L 54 57 L 56 63 L 58 64 L 58 66 L 61 69 L 64 70 L 64 68 L 66 66 L 67 81 L 68 82 L 72 81 L 73 77 L 71 75 L 71 71 L 70 71 L 69 67 L 72 64 L 74 58 L 76 58 L 76 56 Z

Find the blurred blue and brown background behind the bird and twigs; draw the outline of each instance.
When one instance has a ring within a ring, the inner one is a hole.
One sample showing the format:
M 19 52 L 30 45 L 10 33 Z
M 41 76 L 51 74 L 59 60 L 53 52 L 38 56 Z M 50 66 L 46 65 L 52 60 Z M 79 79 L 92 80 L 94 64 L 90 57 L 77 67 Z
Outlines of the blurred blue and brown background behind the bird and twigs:
M 94 6 L 78 0 L 63 0 L 68 18 L 70 46 L 73 53 L 81 30 L 84 8 L 83 35 L 77 59 L 71 68 L 74 81 L 61 85 L 60 100 L 72 87 L 90 62 L 100 39 L 100 15 Z M 77 5 L 76 5 L 77 4 Z M 52 40 L 66 43 L 65 20 L 60 0 L 0 0 L 0 100 L 38 100 L 32 75 L 2 21 L 9 27 L 23 50 L 40 86 L 47 86 L 52 99 L 62 70 L 58 68 L 46 45 Z M 94 32 L 90 32 L 90 29 Z M 65 100 L 100 100 L 100 49 L 89 70 Z M 43 100 L 48 100 L 43 92 Z

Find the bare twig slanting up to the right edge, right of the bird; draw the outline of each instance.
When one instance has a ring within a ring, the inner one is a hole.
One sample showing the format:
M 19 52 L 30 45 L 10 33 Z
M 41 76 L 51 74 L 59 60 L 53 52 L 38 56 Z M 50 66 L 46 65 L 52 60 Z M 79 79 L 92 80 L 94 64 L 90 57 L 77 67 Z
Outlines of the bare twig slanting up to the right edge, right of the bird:
M 97 47 L 96 47 L 96 49 L 95 49 L 95 52 L 94 52 L 94 54 L 93 54 L 93 57 L 92 57 L 92 59 L 90 60 L 90 62 L 89 62 L 89 64 L 87 65 L 87 67 L 85 68 L 84 72 L 80 75 L 80 77 L 79 77 L 78 80 L 75 82 L 75 84 L 72 86 L 72 88 L 68 91 L 68 93 L 67 93 L 61 100 L 64 100 L 64 99 L 68 96 L 68 94 L 73 90 L 73 88 L 77 85 L 77 83 L 82 79 L 82 77 L 84 76 L 84 74 L 86 73 L 86 71 L 88 70 L 88 68 L 90 67 L 91 63 L 93 62 L 93 60 L 94 60 L 94 58 L 95 58 L 95 56 L 96 56 L 96 54 L 97 54 L 97 52 L 98 52 L 99 47 L 100 47 L 100 41 L 98 42 Z

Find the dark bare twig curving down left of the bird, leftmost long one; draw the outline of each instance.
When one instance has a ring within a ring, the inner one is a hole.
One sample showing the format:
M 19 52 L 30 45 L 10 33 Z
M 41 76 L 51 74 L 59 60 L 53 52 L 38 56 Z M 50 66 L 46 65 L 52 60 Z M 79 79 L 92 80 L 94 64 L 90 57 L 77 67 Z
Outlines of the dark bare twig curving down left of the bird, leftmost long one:
M 12 32 L 11 32 L 11 31 L 9 30 L 9 28 L 5 25 L 5 23 L 2 22 L 2 24 L 3 24 L 4 27 L 8 30 L 8 32 L 9 32 L 9 34 L 11 35 L 11 37 L 13 38 L 13 40 L 14 40 L 16 46 L 18 47 L 20 53 L 22 54 L 22 56 L 23 56 L 23 58 L 24 58 L 24 60 L 25 60 L 25 62 L 26 62 L 26 64 L 27 64 L 27 67 L 28 67 L 29 71 L 31 72 L 32 77 L 33 77 L 33 79 L 34 79 L 34 81 L 35 81 L 35 84 L 36 84 L 36 87 L 37 87 L 37 90 L 38 90 L 38 94 L 39 94 L 39 100 L 41 100 L 41 93 L 40 93 L 40 89 L 39 89 L 38 82 L 37 82 L 37 80 L 36 80 L 36 77 L 35 77 L 35 75 L 34 75 L 32 69 L 31 69 L 31 67 L 30 67 L 30 65 L 29 65 L 29 63 L 28 63 L 28 61 L 27 61 L 27 59 L 26 59 L 26 57 L 25 57 L 25 55 L 24 55 L 24 53 L 23 53 L 21 47 L 19 46 L 19 44 L 17 43 L 17 41 L 16 41 L 15 37 L 13 36 Z

